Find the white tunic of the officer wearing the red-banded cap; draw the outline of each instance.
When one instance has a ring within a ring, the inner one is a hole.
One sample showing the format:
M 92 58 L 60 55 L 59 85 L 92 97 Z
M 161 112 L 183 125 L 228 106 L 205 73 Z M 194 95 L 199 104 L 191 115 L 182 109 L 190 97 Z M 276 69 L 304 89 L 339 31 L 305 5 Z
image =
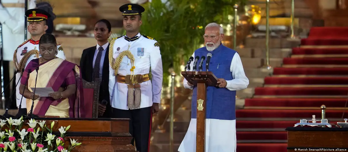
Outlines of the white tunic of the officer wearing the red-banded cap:
M 33 50 L 33 49 L 36 49 L 36 50 L 39 50 L 39 41 L 35 42 L 33 40 L 28 40 L 26 41 L 25 44 L 23 44 L 22 46 L 18 47 L 17 49 L 17 54 L 16 54 L 16 57 L 17 57 L 17 66 L 19 65 L 19 62 L 21 62 L 21 60 L 23 59 L 23 56 L 25 55 L 25 53 L 29 52 L 30 50 Z M 61 47 L 61 45 L 57 45 L 57 49 L 58 49 L 58 54 L 56 55 L 56 57 L 58 58 L 61 58 L 63 60 L 65 60 L 65 55 L 64 55 L 64 52 L 63 52 L 63 48 Z M 12 56 L 13 57 L 13 56 Z M 41 54 L 39 54 L 39 57 L 41 57 Z M 32 54 L 28 60 L 26 61 L 25 63 L 25 67 L 29 64 L 29 62 L 32 60 L 32 59 L 36 59 L 37 57 L 35 57 L 34 54 Z M 19 86 L 20 86 L 20 83 L 21 83 L 21 73 L 17 73 L 16 74 L 16 84 L 17 82 L 18 85 L 16 86 L 16 102 L 17 102 L 17 108 L 19 107 L 19 105 L 21 104 L 21 100 L 22 100 L 22 106 L 21 108 L 26 108 L 26 102 L 25 102 L 25 98 L 23 97 L 22 99 L 22 95 L 19 93 L 20 91 L 23 92 L 23 90 L 19 90 Z

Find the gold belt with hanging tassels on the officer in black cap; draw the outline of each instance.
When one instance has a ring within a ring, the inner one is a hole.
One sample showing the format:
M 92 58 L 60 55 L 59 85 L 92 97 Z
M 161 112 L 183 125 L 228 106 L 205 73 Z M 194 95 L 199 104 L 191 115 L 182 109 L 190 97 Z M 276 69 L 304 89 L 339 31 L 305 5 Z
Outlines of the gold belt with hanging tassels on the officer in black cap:
M 149 81 L 149 74 L 138 75 L 117 75 L 117 82 L 127 84 L 127 106 L 129 109 L 140 108 L 141 90 L 140 84 Z

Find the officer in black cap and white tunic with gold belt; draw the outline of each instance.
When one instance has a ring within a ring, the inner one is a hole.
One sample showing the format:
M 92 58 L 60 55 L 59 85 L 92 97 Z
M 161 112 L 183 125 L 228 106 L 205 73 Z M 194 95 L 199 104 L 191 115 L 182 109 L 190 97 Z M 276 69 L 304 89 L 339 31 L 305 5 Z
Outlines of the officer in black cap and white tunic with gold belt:
M 163 69 L 159 44 L 139 33 L 141 13 L 145 11 L 142 6 L 126 4 L 119 10 L 124 16 L 126 35 L 113 39 L 109 48 L 112 117 L 129 118 L 136 150 L 148 152 L 152 114 L 158 111 L 161 100 Z

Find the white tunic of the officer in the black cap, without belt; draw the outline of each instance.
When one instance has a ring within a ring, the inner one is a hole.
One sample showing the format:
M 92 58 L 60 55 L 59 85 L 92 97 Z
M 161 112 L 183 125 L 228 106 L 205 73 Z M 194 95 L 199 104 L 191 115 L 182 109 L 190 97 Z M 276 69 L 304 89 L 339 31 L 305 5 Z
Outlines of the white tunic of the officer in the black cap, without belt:
M 152 79 L 140 84 L 141 89 L 141 103 L 140 108 L 151 107 L 152 103 L 161 102 L 163 68 L 162 59 L 157 41 L 148 39 L 140 33 L 136 36 L 139 39 L 134 41 L 125 40 L 125 36 L 119 37 L 110 43 L 109 49 L 112 49 L 113 58 L 116 59 L 122 51 L 128 49 L 134 56 L 134 75 L 149 74 L 151 68 Z M 110 54 L 110 52 L 109 52 Z M 118 74 L 122 76 L 130 75 L 130 68 L 132 67 L 130 60 L 124 56 Z M 128 110 L 127 106 L 127 84 L 118 83 L 111 66 L 109 66 L 109 93 L 111 107 L 116 109 Z

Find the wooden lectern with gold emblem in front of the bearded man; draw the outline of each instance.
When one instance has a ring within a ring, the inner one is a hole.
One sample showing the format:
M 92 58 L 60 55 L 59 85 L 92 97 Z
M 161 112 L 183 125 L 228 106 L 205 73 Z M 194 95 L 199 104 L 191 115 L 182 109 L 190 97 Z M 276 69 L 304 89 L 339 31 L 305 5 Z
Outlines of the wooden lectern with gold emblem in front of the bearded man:
M 196 152 L 205 152 L 205 105 L 207 87 L 216 86 L 217 78 L 212 71 L 182 71 L 181 75 L 189 83 L 197 86 Z

